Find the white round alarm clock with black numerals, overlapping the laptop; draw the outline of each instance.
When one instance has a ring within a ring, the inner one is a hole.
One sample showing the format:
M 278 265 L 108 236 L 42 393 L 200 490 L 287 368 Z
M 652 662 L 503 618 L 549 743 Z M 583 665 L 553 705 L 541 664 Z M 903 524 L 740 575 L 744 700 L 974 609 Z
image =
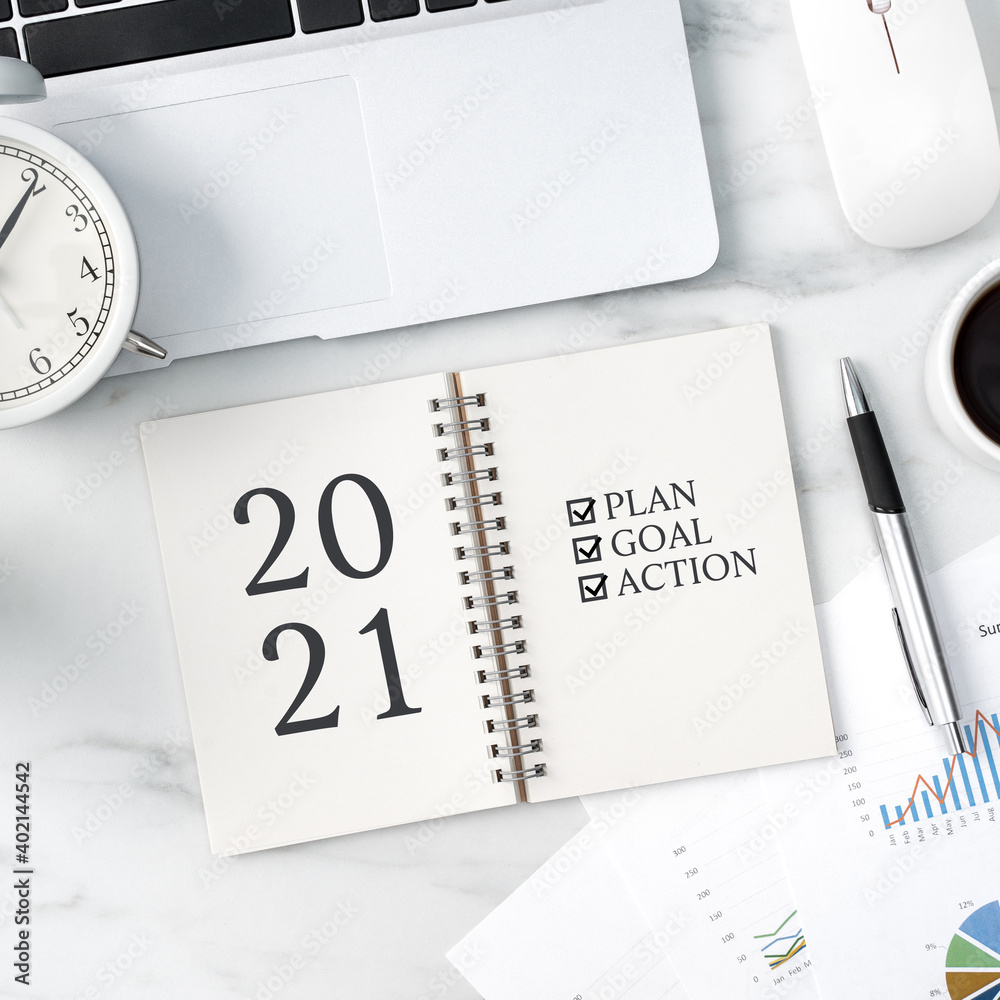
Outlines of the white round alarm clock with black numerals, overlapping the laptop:
M 0 103 L 39 100 L 27 63 L 0 59 Z M 123 347 L 166 352 L 132 330 L 139 255 L 128 217 L 72 146 L 0 118 L 0 428 L 69 406 Z

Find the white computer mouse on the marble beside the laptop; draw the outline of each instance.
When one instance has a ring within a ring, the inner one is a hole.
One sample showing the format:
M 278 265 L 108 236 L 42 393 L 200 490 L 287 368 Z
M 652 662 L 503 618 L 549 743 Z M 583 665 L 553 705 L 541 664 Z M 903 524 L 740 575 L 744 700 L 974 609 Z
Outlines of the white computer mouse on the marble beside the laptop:
M 1000 191 L 1000 142 L 964 0 L 791 0 L 840 204 L 881 247 L 939 243 Z

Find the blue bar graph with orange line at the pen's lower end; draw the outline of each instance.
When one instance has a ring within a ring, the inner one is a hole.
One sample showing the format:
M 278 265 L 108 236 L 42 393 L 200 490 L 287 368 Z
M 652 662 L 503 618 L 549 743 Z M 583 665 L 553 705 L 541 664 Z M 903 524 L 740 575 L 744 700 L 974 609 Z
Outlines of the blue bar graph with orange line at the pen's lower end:
M 950 761 L 947 757 L 943 758 L 942 772 L 931 775 L 930 780 L 918 774 L 906 805 L 892 807 L 894 818 L 890 816 L 888 806 L 879 806 L 887 830 L 905 826 L 907 817 L 911 822 L 921 818 L 931 819 L 935 815 L 932 803 L 936 804 L 938 815 L 945 816 L 949 806 L 952 812 L 958 812 L 977 805 L 977 796 L 979 802 L 1000 800 L 1000 775 L 994 756 L 994 752 L 1000 756 L 1000 720 L 996 713 L 987 718 L 977 710 L 973 726 L 965 726 L 965 737 L 972 746 L 972 752 L 956 754 Z

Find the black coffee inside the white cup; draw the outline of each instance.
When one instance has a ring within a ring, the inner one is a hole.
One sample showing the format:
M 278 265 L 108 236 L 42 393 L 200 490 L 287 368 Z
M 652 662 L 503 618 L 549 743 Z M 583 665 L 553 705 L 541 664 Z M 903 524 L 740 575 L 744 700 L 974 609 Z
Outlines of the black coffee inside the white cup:
M 959 327 L 954 365 L 966 413 L 1000 444 L 1000 285 L 976 300 Z

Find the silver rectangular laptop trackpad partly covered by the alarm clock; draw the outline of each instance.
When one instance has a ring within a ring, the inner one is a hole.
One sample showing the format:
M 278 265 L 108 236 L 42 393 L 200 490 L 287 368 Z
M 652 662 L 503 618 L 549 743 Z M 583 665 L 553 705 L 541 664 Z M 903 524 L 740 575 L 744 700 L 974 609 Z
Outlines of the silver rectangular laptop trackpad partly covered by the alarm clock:
M 152 337 L 388 298 L 389 266 L 350 77 L 54 129 L 132 221 Z M 273 311 L 269 311 L 273 310 Z

